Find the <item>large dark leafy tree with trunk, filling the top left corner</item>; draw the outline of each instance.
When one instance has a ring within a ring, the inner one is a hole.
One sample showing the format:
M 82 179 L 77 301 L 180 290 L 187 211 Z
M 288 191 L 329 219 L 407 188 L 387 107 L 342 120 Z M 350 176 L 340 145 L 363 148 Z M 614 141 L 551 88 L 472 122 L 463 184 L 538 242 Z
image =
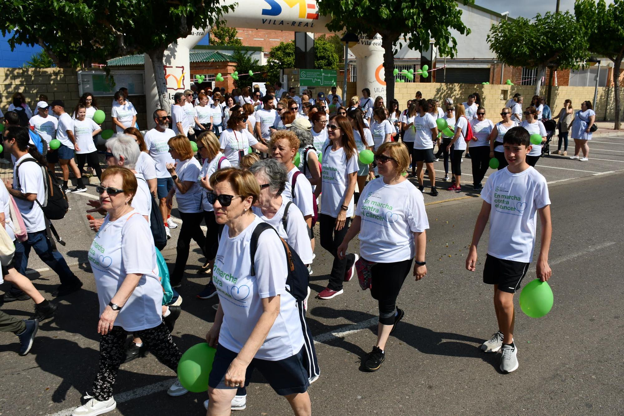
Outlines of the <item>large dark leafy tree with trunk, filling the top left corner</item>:
M 168 45 L 213 26 L 224 12 L 218 0 L 11 0 L 2 3 L 9 44 L 38 44 L 59 67 L 146 53 L 152 59 L 160 106 L 168 111 L 163 53 Z

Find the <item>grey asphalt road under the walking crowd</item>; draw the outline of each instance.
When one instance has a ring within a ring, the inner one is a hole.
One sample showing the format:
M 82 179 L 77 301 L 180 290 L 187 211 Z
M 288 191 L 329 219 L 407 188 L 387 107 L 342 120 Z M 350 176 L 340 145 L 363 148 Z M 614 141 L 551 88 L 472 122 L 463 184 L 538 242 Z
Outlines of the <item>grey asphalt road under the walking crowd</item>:
M 308 322 L 321 364 L 321 377 L 309 390 L 314 414 L 622 414 L 624 173 L 605 173 L 619 170 L 615 166 L 624 162 L 624 157 L 614 156 L 624 155 L 619 140 L 600 145 L 612 149 L 600 157 L 612 160 L 608 166 L 592 155 L 585 163 L 547 157 L 538 164 L 557 163 L 572 169 L 566 171 L 568 176 L 579 170 L 599 174 L 580 172 L 581 179 L 559 182 L 566 178 L 556 179 L 555 171 L 562 169 L 551 169 L 553 176 L 547 176 L 552 182 L 550 285 L 555 305 L 542 319 L 529 318 L 518 309 L 515 342 L 520 367 L 516 372 L 500 374 L 497 355 L 478 349 L 496 330 L 492 290 L 480 277 L 486 237 L 480 244 L 477 272 L 464 269 L 480 200 L 470 195 L 457 199 L 462 196 L 450 192 L 446 198 L 426 196 L 431 224 L 427 232 L 429 272 L 420 282 L 406 280 L 397 301 L 406 317 L 389 339 L 381 370 L 373 374 L 359 370 L 359 360 L 376 340 L 377 305 L 370 294 L 352 281 L 345 285 L 343 295 L 332 300 L 311 297 Z M 599 157 L 598 151 L 593 154 Z M 87 199 L 71 198 L 72 202 Z M 431 204 L 446 199 L 455 200 Z M 78 217 L 84 215 L 72 210 L 64 233 L 71 249 L 67 257 L 76 259 L 74 263 L 84 261 L 80 260 L 82 247 L 88 247 L 86 241 L 92 238 L 86 220 L 82 224 Z M 356 250 L 357 244 L 350 248 Z M 168 260 L 175 255 L 165 253 Z M 318 244 L 316 255 L 313 295 L 323 289 L 331 267 L 331 257 Z M 207 278 L 195 274 L 202 260 L 196 249 L 188 261 L 188 280 L 180 290 L 183 312 L 174 339 L 182 349 L 201 342 L 214 318 L 210 306 L 216 300 L 194 297 L 207 283 Z M 90 388 L 97 371 L 97 297 L 92 275 L 77 274 L 85 290 L 59 302 L 56 319 L 41 325 L 31 354 L 19 357 L 16 337 L 0 334 L 4 364 L 0 414 L 68 415 Z M 531 269 L 525 283 L 534 275 Z M 49 298 L 58 279 L 43 272 L 34 283 Z M 2 310 L 26 317 L 32 302 L 12 302 Z M 204 414 L 202 402 L 207 395 L 173 398 L 165 394 L 173 377 L 152 355 L 122 365 L 115 384 L 117 410 L 110 414 Z M 253 377 L 248 392 L 248 407 L 241 414 L 290 414 L 286 400 L 277 397 L 260 375 Z

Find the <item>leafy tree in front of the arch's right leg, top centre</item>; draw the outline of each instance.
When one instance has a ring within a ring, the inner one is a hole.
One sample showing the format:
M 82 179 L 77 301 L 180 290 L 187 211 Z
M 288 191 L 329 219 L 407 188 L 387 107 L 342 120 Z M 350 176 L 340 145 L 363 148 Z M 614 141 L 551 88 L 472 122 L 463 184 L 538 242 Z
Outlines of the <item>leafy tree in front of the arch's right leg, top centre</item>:
M 464 0 L 472 4 L 474 0 Z M 440 56 L 454 57 L 457 41 L 451 29 L 469 34 L 470 29 L 461 21 L 462 11 L 455 0 L 340 0 L 319 1 L 319 13 L 330 16 L 327 24 L 333 32 L 353 32 L 372 38 L 381 35 L 384 48 L 384 81 L 386 102 L 394 98 L 394 45 L 406 37 L 407 46 L 417 51 L 429 49 L 434 39 Z

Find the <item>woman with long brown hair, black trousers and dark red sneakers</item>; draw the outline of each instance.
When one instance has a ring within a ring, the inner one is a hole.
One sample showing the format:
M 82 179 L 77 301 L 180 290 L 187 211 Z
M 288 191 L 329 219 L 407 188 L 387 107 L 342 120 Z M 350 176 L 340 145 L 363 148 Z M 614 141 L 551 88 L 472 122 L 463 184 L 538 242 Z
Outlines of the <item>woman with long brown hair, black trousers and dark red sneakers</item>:
M 339 259 L 336 251 L 349 230 L 349 221 L 353 215 L 358 148 L 353 139 L 353 127 L 347 117 L 334 117 L 327 128 L 329 142 L 323 149 L 321 183 L 314 190 L 314 195 L 321 196 L 321 245 L 334 256 L 334 262 L 329 284 L 318 294 L 319 299 L 331 299 L 342 294 L 343 282 L 351 280 L 358 260 L 357 254 Z

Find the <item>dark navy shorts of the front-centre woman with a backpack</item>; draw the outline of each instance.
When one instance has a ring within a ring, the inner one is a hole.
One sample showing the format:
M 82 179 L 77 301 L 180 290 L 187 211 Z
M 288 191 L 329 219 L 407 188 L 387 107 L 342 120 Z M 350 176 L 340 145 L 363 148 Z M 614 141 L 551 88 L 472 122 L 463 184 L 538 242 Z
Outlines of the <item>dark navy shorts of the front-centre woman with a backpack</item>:
M 256 369 L 280 396 L 305 393 L 310 386 L 310 381 L 308 380 L 308 371 L 303 364 L 304 348 L 305 345 L 298 354 L 283 360 L 252 359 L 245 374 L 245 385 L 249 385 L 251 373 L 253 369 Z M 215 360 L 212 363 L 208 386 L 213 389 L 238 389 L 238 387 L 227 387 L 225 385 L 225 373 L 227 373 L 230 364 L 237 355 L 238 353 L 230 351 L 221 345 L 217 346 L 217 354 L 215 354 Z

